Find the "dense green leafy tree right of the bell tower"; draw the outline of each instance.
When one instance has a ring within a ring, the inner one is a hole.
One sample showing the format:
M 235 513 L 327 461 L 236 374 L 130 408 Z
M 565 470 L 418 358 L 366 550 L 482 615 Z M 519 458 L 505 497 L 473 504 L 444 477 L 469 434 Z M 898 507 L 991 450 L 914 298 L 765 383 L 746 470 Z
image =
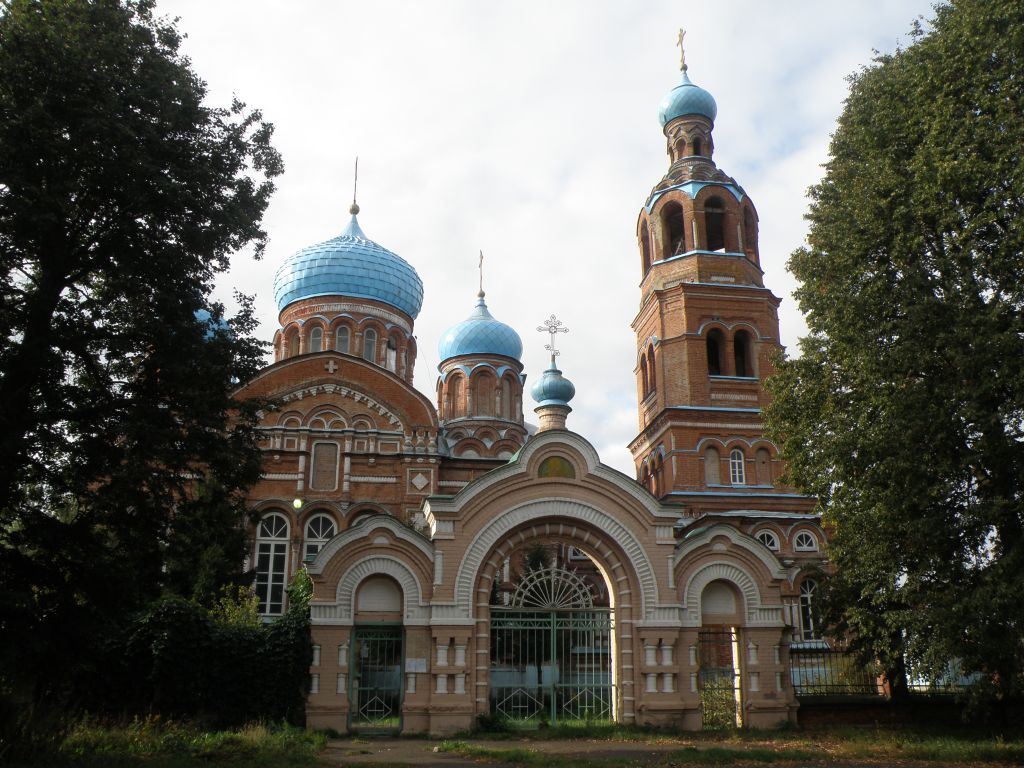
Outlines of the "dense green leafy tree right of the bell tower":
M 851 78 L 770 433 L 818 497 L 826 616 L 899 679 L 1024 686 L 1024 5 L 953 0 Z

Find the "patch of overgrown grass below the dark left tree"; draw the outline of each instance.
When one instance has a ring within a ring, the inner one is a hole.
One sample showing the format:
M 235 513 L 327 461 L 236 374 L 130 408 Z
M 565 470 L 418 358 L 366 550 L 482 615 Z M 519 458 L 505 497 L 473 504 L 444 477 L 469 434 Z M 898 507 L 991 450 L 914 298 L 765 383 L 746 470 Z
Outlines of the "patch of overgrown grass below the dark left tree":
M 50 768 L 194 768 L 247 766 L 306 768 L 316 765 L 327 743 L 323 734 L 285 725 L 254 724 L 231 731 L 134 720 L 127 725 L 82 723 L 53 751 L 12 766 Z

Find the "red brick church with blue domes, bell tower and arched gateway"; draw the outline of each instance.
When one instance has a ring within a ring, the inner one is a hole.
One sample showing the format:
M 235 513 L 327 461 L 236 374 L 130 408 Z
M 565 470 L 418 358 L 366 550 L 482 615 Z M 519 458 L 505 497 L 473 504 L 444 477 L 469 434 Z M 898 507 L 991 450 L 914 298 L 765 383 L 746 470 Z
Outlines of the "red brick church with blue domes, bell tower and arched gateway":
M 524 396 L 522 342 L 481 286 L 436 340 L 427 396 L 423 284 L 354 202 L 338 237 L 278 269 L 274 361 L 237 396 L 275 403 L 251 567 L 268 621 L 298 569 L 312 579 L 310 726 L 795 722 L 825 534 L 763 434 L 779 299 L 754 201 L 715 163 L 717 114 L 684 59 L 659 106 L 669 167 L 623 254 L 639 278 L 635 478 L 571 430 L 554 316 Z

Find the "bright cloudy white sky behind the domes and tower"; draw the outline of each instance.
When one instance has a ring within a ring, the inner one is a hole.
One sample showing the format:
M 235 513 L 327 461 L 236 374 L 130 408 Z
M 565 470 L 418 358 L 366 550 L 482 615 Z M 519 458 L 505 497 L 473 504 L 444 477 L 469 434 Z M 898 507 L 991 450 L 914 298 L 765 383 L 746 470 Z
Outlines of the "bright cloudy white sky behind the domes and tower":
M 278 329 L 273 275 L 340 233 L 359 158 L 359 223 L 423 279 L 415 383 L 435 399 L 437 343 L 476 301 L 523 341 L 526 388 L 548 365 L 549 315 L 569 333 L 568 427 L 634 475 L 630 328 L 639 309 L 636 222 L 668 169 L 657 105 L 688 74 L 718 102 L 715 161 L 759 214 L 765 285 L 782 344 L 806 327 L 785 262 L 805 240 L 806 190 L 827 160 L 846 77 L 908 43 L 927 0 L 158 0 L 213 104 L 238 96 L 274 124 L 285 173 L 260 261 L 236 255 L 215 298 L 256 297 Z M 524 397 L 527 417 L 532 408 Z M 529 419 L 527 418 L 527 421 Z

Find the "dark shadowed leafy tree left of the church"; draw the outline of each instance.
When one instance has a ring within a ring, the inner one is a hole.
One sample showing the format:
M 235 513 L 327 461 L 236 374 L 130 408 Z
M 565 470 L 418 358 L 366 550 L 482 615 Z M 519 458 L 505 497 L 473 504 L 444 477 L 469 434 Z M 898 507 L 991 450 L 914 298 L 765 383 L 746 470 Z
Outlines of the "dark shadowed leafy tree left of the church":
M 242 560 L 259 458 L 230 392 L 262 347 L 247 301 L 224 321 L 209 295 L 262 251 L 282 164 L 258 112 L 207 103 L 180 41 L 150 0 L 0 0 L 0 694 L 19 712 L 73 693 L 130 611 L 206 598 Z

